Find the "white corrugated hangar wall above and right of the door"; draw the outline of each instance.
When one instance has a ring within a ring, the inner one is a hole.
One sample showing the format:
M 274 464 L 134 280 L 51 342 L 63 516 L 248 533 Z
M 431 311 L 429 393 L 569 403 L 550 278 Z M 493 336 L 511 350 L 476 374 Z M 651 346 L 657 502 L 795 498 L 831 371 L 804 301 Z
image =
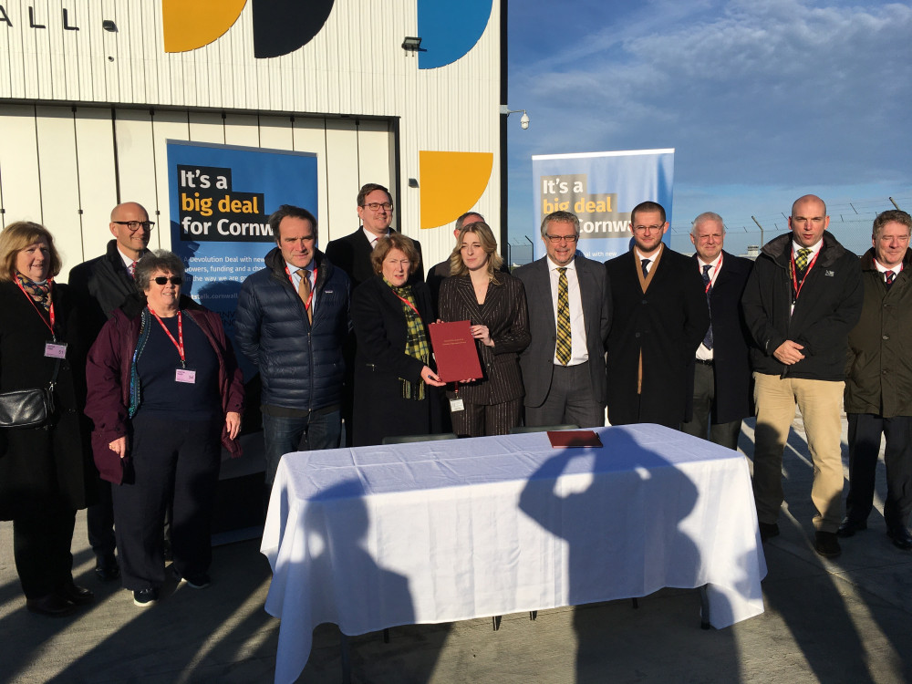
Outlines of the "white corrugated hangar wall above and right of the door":
M 164 52 L 161 0 L 0 0 L 0 5 L 13 23 L 0 23 L 0 99 L 395 118 L 399 150 L 389 147 L 387 156 L 399 153 L 401 174 L 388 180 L 390 187 L 402 189 L 396 220 L 405 233 L 420 238 L 430 263 L 449 254 L 452 233 L 451 225 L 419 231 L 420 189 L 409 188 L 409 178 L 420 179 L 420 150 L 491 153 L 491 179 L 474 208 L 495 230 L 502 222 L 499 0 L 493 0 L 488 25 L 465 57 L 424 70 L 400 47 L 404 36 L 419 35 L 415 0 L 336 0 L 313 40 L 269 59 L 254 57 L 251 3 L 210 45 L 177 54 Z M 46 28 L 29 26 L 29 7 Z M 64 29 L 63 9 L 78 31 Z M 117 32 L 101 28 L 105 19 L 116 23 Z M 207 139 L 212 116 L 194 118 L 182 138 L 196 140 L 198 131 Z M 294 145 L 299 138 L 309 140 L 306 126 L 298 130 L 300 120 L 293 127 Z M 162 128 L 166 124 L 170 121 Z M 344 140 L 353 125 L 330 120 L 324 140 Z M 362 133 L 367 130 L 362 120 Z M 261 121 L 259 132 L 264 147 L 287 148 L 283 126 Z M 269 141 L 272 133 L 279 144 Z M 238 134 L 252 138 L 249 128 Z M 337 193 L 348 193 L 336 183 L 352 184 L 354 174 L 345 155 L 326 161 L 321 181 L 335 182 L 321 186 L 321 192 L 330 198 L 331 209 Z M 381 166 L 387 168 L 388 162 Z M 369 180 L 382 182 L 376 175 Z M 355 222 L 354 214 L 349 220 Z

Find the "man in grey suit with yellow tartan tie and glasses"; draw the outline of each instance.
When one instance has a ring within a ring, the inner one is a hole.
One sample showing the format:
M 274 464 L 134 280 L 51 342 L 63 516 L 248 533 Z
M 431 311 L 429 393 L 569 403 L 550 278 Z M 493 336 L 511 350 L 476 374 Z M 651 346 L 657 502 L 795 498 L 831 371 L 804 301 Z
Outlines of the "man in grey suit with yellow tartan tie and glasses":
M 578 239 L 575 214 L 549 213 L 542 221 L 547 255 L 513 274 L 529 302 L 532 342 L 520 356 L 528 426 L 605 425 L 611 296 L 605 267 L 576 253 Z

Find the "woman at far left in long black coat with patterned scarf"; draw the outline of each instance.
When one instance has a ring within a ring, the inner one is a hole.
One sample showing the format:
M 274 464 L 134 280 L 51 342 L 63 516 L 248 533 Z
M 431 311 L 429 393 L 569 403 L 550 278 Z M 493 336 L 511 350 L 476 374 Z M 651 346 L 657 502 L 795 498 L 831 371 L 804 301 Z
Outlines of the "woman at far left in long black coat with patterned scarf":
M 19 221 L 0 233 L 0 392 L 53 386 L 55 405 L 41 425 L 0 428 L 0 520 L 13 521 L 26 608 L 50 617 L 94 598 L 72 575 L 76 511 L 91 503 L 93 480 L 85 349 L 72 292 L 54 282 L 60 267 L 44 226 Z

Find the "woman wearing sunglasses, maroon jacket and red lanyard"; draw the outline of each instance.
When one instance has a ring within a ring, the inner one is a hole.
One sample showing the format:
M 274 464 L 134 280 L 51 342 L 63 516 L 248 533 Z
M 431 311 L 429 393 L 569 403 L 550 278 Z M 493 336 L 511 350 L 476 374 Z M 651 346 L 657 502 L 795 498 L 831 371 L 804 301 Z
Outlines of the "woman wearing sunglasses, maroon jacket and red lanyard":
M 173 575 L 209 585 L 221 447 L 241 453 L 241 371 L 218 314 L 181 297 L 183 275 L 176 254 L 142 257 L 136 283 L 145 306 L 116 311 L 88 355 L 92 447 L 101 477 L 117 485 L 120 575 L 137 606 L 155 603 L 167 579 L 169 506 Z

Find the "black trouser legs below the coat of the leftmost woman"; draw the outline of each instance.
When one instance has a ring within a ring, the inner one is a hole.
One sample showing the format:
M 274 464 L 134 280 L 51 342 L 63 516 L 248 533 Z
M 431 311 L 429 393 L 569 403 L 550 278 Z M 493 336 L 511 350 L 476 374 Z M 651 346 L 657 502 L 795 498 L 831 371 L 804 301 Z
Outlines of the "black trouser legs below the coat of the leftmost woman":
M 36 505 L 13 520 L 13 556 L 26 598 L 41 598 L 72 579 L 76 511 L 53 502 Z

